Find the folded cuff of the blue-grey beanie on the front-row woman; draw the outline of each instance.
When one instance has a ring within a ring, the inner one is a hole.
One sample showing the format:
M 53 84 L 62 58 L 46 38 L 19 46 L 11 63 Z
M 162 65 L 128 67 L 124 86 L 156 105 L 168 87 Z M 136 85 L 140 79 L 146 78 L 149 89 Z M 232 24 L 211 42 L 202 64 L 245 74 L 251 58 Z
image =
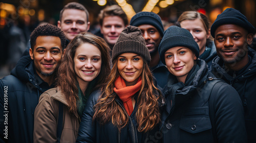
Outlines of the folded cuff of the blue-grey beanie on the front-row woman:
M 160 55 L 160 59 L 163 64 L 166 65 L 165 58 L 164 58 L 165 52 L 167 50 L 169 50 L 170 48 L 176 47 L 176 46 L 187 47 L 188 49 L 190 49 L 191 51 L 194 52 L 194 54 L 196 55 L 197 58 L 199 57 L 199 46 L 194 39 L 191 39 L 191 38 L 188 38 L 185 36 L 181 36 L 181 35 L 172 36 L 172 37 L 164 39 L 159 45 L 159 47 L 160 47 L 159 55 Z

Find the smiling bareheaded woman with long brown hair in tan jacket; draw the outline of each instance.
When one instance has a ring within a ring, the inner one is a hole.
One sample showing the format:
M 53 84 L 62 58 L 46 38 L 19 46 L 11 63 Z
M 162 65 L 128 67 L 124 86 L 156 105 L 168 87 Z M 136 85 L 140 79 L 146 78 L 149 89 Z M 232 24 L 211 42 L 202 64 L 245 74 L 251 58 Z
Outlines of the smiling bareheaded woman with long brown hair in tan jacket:
M 75 142 L 87 99 L 110 73 L 109 50 L 90 33 L 70 42 L 58 68 L 57 87 L 44 92 L 35 109 L 34 142 Z

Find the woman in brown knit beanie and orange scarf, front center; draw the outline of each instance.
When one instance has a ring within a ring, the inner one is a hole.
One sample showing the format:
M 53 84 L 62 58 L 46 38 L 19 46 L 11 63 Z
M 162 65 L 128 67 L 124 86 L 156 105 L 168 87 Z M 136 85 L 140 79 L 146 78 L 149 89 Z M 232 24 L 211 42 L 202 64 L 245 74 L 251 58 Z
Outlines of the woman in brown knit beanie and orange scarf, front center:
M 150 60 L 139 28 L 125 28 L 113 47 L 113 68 L 108 85 L 91 94 L 84 109 L 77 142 L 159 139 L 155 134 L 159 133 L 159 106 L 163 100 L 153 82 L 148 66 Z

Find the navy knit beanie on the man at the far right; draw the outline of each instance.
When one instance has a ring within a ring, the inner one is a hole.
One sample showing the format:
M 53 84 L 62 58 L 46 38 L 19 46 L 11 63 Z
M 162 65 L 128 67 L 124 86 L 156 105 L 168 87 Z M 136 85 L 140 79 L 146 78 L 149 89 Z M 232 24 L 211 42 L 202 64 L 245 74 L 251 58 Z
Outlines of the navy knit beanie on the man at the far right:
M 227 8 L 221 14 L 217 16 L 214 23 L 211 25 L 210 34 L 212 37 L 215 38 L 215 31 L 216 29 L 225 24 L 233 24 L 238 25 L 248 33 L 255 33 L 255 28 L 251 25 L 251 23 L 247 20 L 247 18 L 238 10 L 233 8 Z

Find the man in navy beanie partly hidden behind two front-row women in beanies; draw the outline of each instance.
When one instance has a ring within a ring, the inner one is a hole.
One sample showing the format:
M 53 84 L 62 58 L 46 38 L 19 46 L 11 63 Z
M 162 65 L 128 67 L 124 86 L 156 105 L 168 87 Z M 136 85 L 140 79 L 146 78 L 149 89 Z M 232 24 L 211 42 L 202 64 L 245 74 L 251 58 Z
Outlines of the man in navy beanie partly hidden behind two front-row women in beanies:
M 139 12 L 132 17 L 130 25 L 140 28 L 148 51 L 150 51 L 152 73 L 157 80 L 157 84 L 163 88 L 167 83 L 169 71 L 161 62 L 158 53 L 158 47 L 164 32 L 160 16 L 153 12 Z

